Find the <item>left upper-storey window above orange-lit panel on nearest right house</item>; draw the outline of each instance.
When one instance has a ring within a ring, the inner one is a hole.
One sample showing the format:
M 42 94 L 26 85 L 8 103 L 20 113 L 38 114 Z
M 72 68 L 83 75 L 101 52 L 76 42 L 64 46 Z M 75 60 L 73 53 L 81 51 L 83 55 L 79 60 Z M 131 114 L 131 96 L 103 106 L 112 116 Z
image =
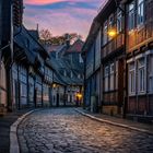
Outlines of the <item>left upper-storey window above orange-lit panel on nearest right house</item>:
M 129 4 L 129 9 L 128 9 L 128 26 L 129 30 L 133 30 L 134 28 L 134 1 L 132 1 Z

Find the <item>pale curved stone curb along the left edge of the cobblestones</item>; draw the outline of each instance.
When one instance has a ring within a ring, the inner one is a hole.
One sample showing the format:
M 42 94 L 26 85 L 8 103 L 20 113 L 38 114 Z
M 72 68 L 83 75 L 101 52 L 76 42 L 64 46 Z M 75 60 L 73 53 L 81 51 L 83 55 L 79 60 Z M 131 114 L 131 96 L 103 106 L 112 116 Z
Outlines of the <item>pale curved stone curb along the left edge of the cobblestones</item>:
M 23 119 L 25 119 L 28 115 L 37 111 L 39 109 L 31 110 L 21 117 L 10 127 L 10 153 L 20 153 L 19 140 L 17 140 L 17 127 Z

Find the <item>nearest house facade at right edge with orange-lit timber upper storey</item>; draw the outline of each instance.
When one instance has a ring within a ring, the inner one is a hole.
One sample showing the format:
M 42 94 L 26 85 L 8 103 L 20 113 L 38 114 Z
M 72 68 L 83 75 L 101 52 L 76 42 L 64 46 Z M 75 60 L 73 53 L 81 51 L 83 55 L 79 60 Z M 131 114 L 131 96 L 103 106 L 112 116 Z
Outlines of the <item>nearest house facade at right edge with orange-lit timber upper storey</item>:
M 153 116 L 153 0 L 127 1 L 129 116 Z

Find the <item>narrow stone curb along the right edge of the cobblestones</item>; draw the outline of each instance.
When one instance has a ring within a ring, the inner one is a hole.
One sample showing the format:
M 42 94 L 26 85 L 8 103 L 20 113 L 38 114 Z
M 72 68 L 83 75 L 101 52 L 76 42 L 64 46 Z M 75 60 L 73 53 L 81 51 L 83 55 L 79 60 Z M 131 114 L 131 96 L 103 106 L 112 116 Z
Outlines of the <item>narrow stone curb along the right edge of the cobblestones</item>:
M 139 131 L 139 132 L 144 132 L 144 133 L 148 133 L 148 134 L 153 134 L 153 132 L 151 132 L 149 130 L 145 130 L 145 129 L 140 129 L 140 128 L 127 126 L 127 125 L 123 125 L 123 123 L 117 123 L 117 122 L 109 121 L 109 120 L 106 120 L 106 119 L 97 118 L 97 117 L 95 117 L 93 115 L 83 113 L 82 110 L 79 110 L 79 109 L 74 109 L 74 110 L 78 111 L 79 114 L 83 115 L 83 116 L 86 116 L 86 117 L 89 117 L 89 118 L 91 118 L 93 120 L 99 121 L 99 122 L 106 122 L 106 123 L 109 123 L 109 125 L 113 125 L 113 126 L 117 126 L 117 127 L 121 127 L 121 128 L 127 128 L 127 129 L 130 129 L 130 130 L 134 130 L 134 131 Z

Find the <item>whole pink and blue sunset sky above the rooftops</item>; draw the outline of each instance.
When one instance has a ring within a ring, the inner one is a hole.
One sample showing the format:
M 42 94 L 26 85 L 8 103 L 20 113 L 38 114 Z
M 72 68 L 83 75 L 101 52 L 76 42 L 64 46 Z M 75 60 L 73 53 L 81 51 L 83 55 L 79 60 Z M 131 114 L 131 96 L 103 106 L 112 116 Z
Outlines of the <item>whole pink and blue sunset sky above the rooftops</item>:
M 99 0 L 94 1 L 98 1 L 96 7 L 93 0 L 25 0 L 25 3 L 49 4 L 25 4 L 24 24 L 27 28 L 36 28 L 38 23 L 39 28 L 51 30 L 52 35 L 74 32 L 85 38 L 99 4 Z

